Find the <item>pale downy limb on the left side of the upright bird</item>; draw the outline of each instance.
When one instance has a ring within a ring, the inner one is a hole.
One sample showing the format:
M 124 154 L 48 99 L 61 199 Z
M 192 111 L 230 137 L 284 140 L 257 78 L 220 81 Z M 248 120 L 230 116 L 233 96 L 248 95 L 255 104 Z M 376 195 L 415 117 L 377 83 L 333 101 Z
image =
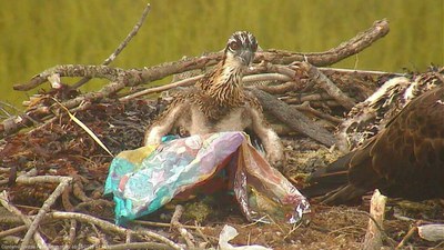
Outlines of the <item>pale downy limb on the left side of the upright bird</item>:
M 178 122 L 183 112 L 184 104 L 171 107 L 162 117 L 155 121 L 145 132 L 143 144 L 158 144 L 162 137 L 165 136 Z

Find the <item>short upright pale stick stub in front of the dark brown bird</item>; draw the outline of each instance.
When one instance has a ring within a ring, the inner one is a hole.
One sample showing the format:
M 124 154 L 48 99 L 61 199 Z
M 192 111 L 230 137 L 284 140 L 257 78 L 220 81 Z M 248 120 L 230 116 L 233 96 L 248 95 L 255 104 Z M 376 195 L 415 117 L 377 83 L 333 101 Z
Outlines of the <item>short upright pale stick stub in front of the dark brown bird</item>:
M 370 204 L 370 214 L 374 220 L 369 220 L 367 232 L 365 233 L 364 250 L 381 249 L 382 247 L 382 229 L 384 222 L 385 201 L 387 198 L 381 194 L 380 190 L 375 190 Z M 377 224 L 376 224 L 377 223 Z

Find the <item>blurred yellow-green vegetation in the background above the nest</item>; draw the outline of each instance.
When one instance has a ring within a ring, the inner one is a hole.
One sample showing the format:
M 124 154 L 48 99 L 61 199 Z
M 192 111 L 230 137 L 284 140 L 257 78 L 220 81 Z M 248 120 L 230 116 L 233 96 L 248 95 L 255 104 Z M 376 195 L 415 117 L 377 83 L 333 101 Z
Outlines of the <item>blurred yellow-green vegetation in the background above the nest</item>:
M 335 67 L 402 71 L 444 64 L 443 0 L 0 0 L 0 100 L 20 106 L 27 93 L 12 84 L 56 64 L 101 63 L 147 2 L 152 8 L 145 23 L 112 66 L 141 68 L 216 51 L 236 30 L 253 32 L 263 49 L 324 51 L 383 18 L 390 33 Z

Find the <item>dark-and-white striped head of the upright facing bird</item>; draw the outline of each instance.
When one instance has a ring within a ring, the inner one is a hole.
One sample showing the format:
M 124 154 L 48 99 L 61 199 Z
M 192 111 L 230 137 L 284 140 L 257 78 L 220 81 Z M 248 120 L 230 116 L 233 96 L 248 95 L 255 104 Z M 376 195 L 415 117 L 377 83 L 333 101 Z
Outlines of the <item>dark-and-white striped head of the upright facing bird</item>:
M 258 50 L 256 38 L 248 31 L 234 32 L 225 48 L 225 61 L 239 67 L 248 67 L 254 59 Z

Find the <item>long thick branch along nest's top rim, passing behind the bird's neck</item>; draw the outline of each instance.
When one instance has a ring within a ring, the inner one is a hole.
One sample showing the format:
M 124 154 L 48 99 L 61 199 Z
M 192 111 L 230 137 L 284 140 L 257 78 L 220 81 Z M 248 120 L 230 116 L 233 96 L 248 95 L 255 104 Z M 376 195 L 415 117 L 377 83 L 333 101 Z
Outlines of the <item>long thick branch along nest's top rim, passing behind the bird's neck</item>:
M 355 54 L 363 49 L 371 46 L 377 39 L 384 37 L 389 32 L 389 22 L 386 20 L 376 21 L 372 28 L 369 30 L 359 33 L 356 37 L 352 38 L 347 42 L 340 44 L 339 47 L 331 49 L 325 52 L 320 53 L 296 53 L 289 51 L 280 51 L 280 50 L 269 50 L 264 52 L 258 52 L 254 59 L 255 62 L 266 61 L 276 64 L 289 64 L 294 61 L 307 61 L 313 66 L 322 67 L 330 66 L 337 61 L 341 61 L 344 58 L 347 58 L 352 54 Z M 129 81 L 128 83 L 132 84 L 142 84 L 148 83 L 154 80 L 160 80 L 167 76 L 195 70 L 203 67 L 215 64 L 218 61 L 222 59 L 222 52 L 213 52 L 208 56 L 196 57 L 196 58 L 188 58 L 175 62 L 163 63 L 154 67 L 150 67 L 143 70 L 128 70 L 132 71 L 131 74 L 137 74 L 140 77 L 139 81 Z M 78 66 L 82 67 L 82 66 Z M 84 66 L 83 66 L 84 67 Z M 92 67 L 92 66 L 90 66 Z M 103 66 L 102 66 L 103 67 Z M 62 69 L 64 66 L 58 66 L 52 68 L 52 73 L 59 73 L 60 77 L 91 77 L 94 78 L 97 74 L 94 72 L 84 71 L 83 76 L 79 74 L 79 72 L 61 72 L 59 70 L 54 71 L 53 69 Z M 111 69 L 111 68 L 110 68 Z M 110 77 L 110 76 L 108 76 Z M 112 76 L 114 77 L 114 76 Z M 24 84 L 16 84 L 13 88 L 20 91 L 31 90 L 39 84 L 47 81 L 48 72 L 44 71 L 37 77 L 32 78 L 31 82 Z

